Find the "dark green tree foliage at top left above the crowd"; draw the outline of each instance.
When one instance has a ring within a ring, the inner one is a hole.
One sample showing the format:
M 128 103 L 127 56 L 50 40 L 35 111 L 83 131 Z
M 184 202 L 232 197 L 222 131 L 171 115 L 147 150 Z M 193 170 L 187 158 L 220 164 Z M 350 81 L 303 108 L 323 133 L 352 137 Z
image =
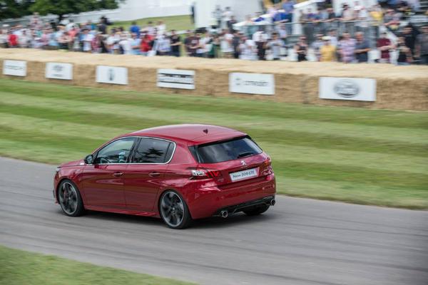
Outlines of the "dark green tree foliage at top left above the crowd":
M 41 15 L 58 15 L 58 21 L 65 14 L 78 14 L 99 9 L 116 9 L 118 4 L 125 0 L 36 0 L 30 6 L 31 12 L 39 12 Z

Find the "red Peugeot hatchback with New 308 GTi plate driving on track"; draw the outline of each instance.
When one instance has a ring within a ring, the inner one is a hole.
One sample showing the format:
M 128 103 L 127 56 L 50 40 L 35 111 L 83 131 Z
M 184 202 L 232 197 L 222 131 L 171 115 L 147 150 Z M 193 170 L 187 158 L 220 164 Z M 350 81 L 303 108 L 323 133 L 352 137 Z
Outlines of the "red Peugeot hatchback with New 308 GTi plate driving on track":
M 121 135 L 84 160 L 56 169 L 54 197 L 68 216 L 85 209 L 192 219 L 275 204 L 270 157 L 245 133 L 214 125 L 168 125 Z

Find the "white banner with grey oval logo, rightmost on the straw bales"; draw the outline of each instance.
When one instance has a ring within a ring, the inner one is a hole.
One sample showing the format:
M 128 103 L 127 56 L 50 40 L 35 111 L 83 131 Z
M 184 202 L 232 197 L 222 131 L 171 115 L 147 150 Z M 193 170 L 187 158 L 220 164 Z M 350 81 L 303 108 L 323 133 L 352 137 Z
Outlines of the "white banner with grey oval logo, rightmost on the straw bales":
M 376 100 L 376 80 L 371 78 L 320 77 L 320 98 L 334 100 Z

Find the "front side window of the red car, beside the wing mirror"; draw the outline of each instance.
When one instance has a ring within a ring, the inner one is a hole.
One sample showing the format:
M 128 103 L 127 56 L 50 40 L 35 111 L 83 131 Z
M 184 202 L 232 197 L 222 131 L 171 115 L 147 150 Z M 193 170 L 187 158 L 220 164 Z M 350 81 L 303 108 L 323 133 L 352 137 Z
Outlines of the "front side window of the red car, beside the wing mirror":
M 136 138 L 115 140 L 103 147 L 96 155 L 96 164 L 126 163 Z

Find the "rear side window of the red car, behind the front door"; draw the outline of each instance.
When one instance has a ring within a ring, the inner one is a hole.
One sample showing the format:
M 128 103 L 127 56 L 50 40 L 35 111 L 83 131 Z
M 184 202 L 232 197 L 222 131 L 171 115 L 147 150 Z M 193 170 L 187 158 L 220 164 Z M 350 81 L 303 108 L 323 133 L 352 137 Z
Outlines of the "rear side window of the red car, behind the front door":
M 173 155 L 174 144 L 166 140 L 141 138 L 133 155 L 133 163 L 166 163 Z

